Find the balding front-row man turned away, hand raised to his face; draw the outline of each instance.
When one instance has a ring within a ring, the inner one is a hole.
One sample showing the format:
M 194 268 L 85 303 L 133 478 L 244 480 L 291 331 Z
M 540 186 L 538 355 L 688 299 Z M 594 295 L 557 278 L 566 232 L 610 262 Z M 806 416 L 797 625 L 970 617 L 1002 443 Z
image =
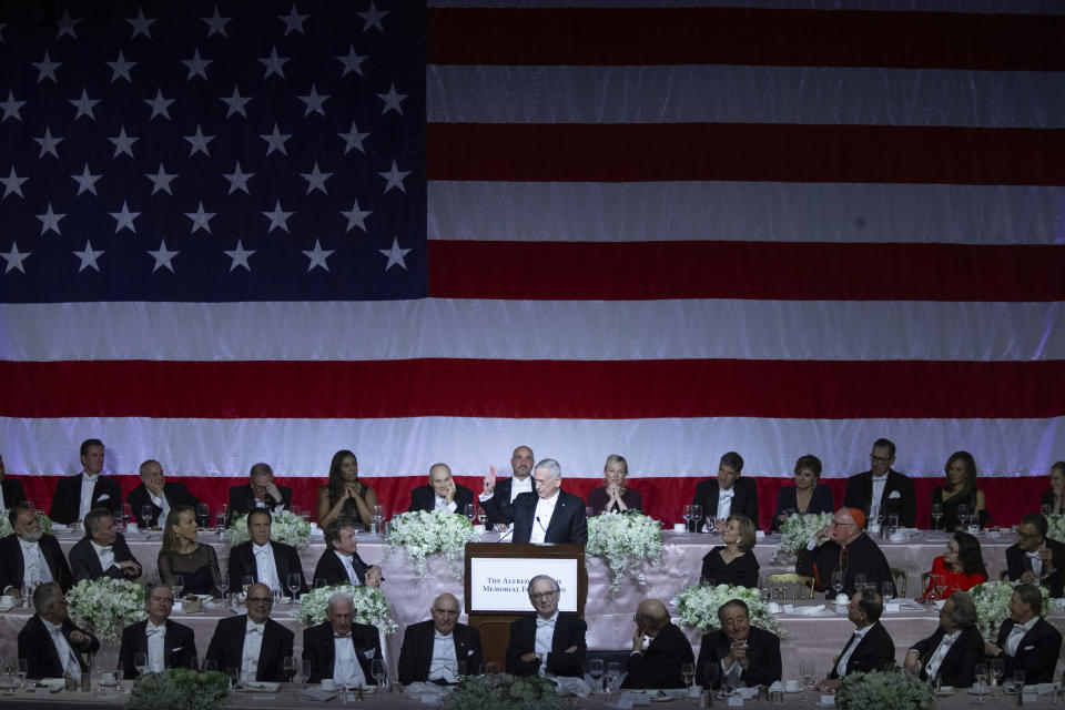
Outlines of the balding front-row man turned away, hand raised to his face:
M 628 674 L 622 688 L 683 688 L 683 663 L 693 663 L 694 653 L 684 632 L 669 620 L 658 599 L 645 599 L 636 608 L 632 652 L 625 663 Z

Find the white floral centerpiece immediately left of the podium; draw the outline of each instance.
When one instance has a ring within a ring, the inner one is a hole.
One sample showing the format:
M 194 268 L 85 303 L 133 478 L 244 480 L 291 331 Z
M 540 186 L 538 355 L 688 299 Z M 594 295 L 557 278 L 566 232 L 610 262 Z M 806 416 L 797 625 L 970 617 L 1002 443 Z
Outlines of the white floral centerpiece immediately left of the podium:
M 415 510 L 393 516 L 388 523 L 386 555 L 404 550 L 418 565 L 418 577 L 425 577 L 426 558 L 443 555 L 448 560 L 452 574 L 458 578 L 463 568 L 463 551 L 466 542 L 478 539 L 474 525 L 464 515 L 434 510 Z

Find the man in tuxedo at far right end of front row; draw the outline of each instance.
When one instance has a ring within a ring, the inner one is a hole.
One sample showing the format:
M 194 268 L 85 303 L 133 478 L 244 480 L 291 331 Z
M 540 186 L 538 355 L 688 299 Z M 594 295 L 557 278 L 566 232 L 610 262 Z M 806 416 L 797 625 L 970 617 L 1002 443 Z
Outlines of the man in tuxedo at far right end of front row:
M 1024 671 L 1028 684 L 1054 680 L 1054 669 L 1062 650 L 1062 635 L 1043 620 L 1043 592 L 1034 585 L 1017 585 L 1010 597 L 1010 618 L 998 627 L 994 643 L 984 643 L 984 653 L 1001 658 L 1006 678 Z

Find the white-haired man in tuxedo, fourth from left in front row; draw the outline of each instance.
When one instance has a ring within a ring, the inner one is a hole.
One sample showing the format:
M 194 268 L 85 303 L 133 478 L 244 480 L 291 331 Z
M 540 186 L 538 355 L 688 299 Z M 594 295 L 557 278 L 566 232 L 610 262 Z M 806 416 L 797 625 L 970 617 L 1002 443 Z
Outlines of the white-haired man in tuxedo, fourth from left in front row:
M 325 621 L 303 631 L 303 658 L 310 683 L 323 678 L 348 686 L 375 686 L 372 663 L 381 655 L 377 627 L 355 621 L 355 602 L 343 592 L 329 597 Z

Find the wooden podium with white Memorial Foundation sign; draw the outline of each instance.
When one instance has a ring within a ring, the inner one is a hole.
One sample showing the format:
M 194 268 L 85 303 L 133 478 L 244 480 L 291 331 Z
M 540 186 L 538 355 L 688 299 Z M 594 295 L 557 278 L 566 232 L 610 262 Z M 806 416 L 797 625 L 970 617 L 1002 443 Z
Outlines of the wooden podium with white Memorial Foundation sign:
M 509 585 L 507 598 L 500 596 L 497 604 L 485 588 L 474 589 L 476 584 L 471 570 L 476 567 L 481 570 L 490 569 L 494 560 L 500 560 L 511 569 L 520 566 L 520 572 L 505 580 Z M 466 616 L 469 626 L 480 631 L 480 642 L 484 660 L 499 663 L 503 671 L 506 663 L 507 645 L 510 642 L 510 622 L 521 617 L 536 613 L 528 597 L 529 579 L 537 575 L 548 574 L 539 569 L 537 562 L 542 560 L 544 566 L 560 565 L 571 568 L 569 560 L 576 561 L 576 590 L 562 589 L 562 599 L 566 606 L 559 605 L 560 611 L 576 611 L 581 618 L 585 616 L 585 601 L 588 598 L 588 572 L 585 569 L 584 545 L 530 545 L 515 542 L 467 542 L 466 569 L 464 575 L 464 598 L 466 600 Z M 554 575 L 552 575 L 554 576 Z M 517 598 L 517 589 L 521 588 L 524 602 Z M 576 591 L 576 598 L 574 598 Z M 481 594 L 478 594 L 481 592 Z M 477 600 L 475 600 L 475 597 Z M 479 608 L 475 608 L 475 606 Z

